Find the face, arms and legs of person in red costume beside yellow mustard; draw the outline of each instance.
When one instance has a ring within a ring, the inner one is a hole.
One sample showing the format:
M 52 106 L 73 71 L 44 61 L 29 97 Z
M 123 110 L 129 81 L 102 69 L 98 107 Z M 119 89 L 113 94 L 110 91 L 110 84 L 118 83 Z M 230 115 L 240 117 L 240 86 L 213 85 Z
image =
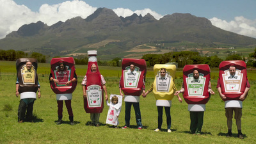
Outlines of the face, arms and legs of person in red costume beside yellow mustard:
M 134 64 L 131 64 L 130 65 L 130 72 L 131 73 L 134 73 L 136 70 L 135 70 L 135 65 Z M 120 79 L 121 81 L 121 79 Z M 145 76 L 143 76 L 143 95 L 145 95 Z M 121 88 L 121 85 L 119 83 L 119 92 L 120 92 L 120 95 L 123 95 L 122 93 L 122 88 Z M 125 95 L 126 97 L 126 95 Z M 132 95 L 129 95 L 129 97 L 138 97 L 138 96 L 132 96 Z M 142 124 L 141 124 L 141 113 L 140 113 L 140 102 L 127 102 L 125 101 L 125 125 L 124 127 L 122 127 L 122 129 L 127 129 L 128 127 L 130 127 L 130 119 L 131 119 L 131 106 L 133 106 L 134 108 L 134 111 L 135 111 L 135 116 L 136 116 L 136 123 L 138 125 L 138 129 L 142 129 Z

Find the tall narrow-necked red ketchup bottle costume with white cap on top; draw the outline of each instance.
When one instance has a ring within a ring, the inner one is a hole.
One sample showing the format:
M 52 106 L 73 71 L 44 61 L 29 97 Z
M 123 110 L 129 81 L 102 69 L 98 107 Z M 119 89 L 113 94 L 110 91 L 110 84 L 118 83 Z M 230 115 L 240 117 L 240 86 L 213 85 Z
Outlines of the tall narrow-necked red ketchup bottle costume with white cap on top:
M 89 61 L 86 72 L 86 94 L 84 99 L 84 110 L 86 113 L 102 113 L 104 108 L 103 88 L 97 63 L 97 51 L 88 51 Z M 97 72 L 92 72 L 92 65 L 97 66 Z

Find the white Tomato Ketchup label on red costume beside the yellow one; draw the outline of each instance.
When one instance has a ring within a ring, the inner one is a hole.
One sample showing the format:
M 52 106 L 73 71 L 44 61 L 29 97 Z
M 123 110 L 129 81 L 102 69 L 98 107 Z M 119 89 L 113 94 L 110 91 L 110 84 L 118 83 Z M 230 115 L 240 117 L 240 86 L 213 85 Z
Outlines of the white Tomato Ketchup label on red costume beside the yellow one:
M 124 87 L 125 88 L 137 88 L 140 79 L 141 72 L 139 67 L 135 67 L 133 72 L 130 70 L 130 66 L 124 70 Z

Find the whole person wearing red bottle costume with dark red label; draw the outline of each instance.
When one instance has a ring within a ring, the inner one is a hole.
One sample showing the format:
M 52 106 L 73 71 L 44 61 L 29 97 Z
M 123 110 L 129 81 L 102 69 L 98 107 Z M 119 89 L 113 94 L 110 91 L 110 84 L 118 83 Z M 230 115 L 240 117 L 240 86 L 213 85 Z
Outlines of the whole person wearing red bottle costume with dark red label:
M 58 122 L 56 124 L 62 124 L 64 100 L 68 110 L 70 125 L 74 125 L 74 115 L 71 107 L 72 93 L 76 89 L 77 85 L 74 58 L 52 58 L 49 81 L 52 91 L 56 93 L 56 100 L 58 104 Z

